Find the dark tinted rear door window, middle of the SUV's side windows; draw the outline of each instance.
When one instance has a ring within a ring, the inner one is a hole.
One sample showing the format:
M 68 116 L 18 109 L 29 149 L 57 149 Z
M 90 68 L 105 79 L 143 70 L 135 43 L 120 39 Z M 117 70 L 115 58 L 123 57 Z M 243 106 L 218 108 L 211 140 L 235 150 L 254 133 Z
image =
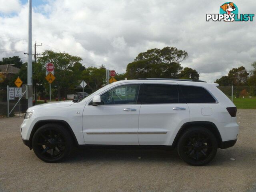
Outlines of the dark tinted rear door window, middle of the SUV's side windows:
M 142 104 L 178 103 L 178 86 L 167 84 L 144 84 L 141 97 Z

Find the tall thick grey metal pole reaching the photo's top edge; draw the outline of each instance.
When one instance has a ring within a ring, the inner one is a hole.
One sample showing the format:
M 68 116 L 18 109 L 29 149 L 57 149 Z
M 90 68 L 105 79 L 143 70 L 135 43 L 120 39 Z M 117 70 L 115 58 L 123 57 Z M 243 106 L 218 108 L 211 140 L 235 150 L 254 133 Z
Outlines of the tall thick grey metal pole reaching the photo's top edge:
M 32 107 L 32 0 L 28 0 L 28 108 Z

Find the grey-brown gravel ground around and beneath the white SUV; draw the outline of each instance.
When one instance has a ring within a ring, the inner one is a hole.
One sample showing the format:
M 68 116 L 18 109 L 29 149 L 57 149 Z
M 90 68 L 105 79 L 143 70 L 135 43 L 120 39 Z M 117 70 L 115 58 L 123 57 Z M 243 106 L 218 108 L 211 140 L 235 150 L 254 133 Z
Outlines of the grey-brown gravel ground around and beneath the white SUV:
M 255 192 L 256 110 L 237 116 L 236 145 L 202 167 L 187 165 L 176 150 L 75 149 L 66 161 L 49 164 L 22 143 L 23 118 L 1 118 L 0 192 Z

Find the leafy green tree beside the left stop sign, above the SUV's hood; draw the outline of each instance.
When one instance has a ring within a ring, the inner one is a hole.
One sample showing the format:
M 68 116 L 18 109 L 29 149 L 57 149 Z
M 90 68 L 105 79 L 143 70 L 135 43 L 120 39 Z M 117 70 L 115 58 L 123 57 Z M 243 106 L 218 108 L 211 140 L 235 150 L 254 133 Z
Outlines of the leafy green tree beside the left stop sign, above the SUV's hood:
M 38 59 L 43 68 L 47 62 L 54 64 L 54 76 L 56 80 L 52 83 L 58 89 L 58 98 L 61 99 L 61 90 L 64 90 L 64 96 L 67 98 L 67 88 L 77 86 L 82 76 L 82 58 L 72 56 L 68 53 L 57 53 L 52 50 L 46 50 Z M 45 80 L 46 81 L 46 80 Z M 53 87 L 52 86 L 52 87 Z

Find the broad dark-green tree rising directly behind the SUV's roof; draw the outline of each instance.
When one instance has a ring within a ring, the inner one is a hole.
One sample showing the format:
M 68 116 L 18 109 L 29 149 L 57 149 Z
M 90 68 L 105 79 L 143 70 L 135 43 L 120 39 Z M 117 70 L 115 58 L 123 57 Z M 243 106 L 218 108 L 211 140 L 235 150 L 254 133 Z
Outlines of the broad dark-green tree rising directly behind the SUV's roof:
M 180 62 L 188 57 L 188 53 L 175 47 L 150 49 L 138 54 L 126 67 L 126 76 L 136 78 L 177 78 L 182 70 Z

